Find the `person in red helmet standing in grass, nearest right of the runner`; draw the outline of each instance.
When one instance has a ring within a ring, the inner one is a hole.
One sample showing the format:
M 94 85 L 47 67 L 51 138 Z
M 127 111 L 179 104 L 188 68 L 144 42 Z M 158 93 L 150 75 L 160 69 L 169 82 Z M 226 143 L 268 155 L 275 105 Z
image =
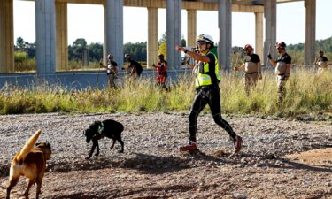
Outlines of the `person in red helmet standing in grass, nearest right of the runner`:
M 251 44 L 247 44 L 243 48 L 246 56 L 244 57 L 244 64 L 238 67 L 234 67 L 235 71 L 245 71 L 244 78 L 244 90 L 249 96 L 251 88 L 255 88 L 257 84 L 257 80 L 261 80 L 262 78 L 262 66 L 260 65 L 259 55 L 253 53 L 253 48 Z

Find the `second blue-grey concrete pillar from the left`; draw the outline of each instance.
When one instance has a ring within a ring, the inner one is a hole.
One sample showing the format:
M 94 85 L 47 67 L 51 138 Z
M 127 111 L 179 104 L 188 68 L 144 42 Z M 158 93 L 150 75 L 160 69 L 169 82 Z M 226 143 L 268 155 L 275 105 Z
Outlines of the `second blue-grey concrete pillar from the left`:
M 123 53 L 123 0 L 104 1 L 104 64 L 111 52 L 114 61 L 122 68 Z

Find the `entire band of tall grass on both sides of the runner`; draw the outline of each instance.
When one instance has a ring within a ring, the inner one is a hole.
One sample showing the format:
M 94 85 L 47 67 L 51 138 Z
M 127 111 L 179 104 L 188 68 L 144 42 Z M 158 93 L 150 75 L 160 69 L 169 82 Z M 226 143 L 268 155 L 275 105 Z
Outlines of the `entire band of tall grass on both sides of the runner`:
M 189 76 L 189 75 L 187 75 Z M 251 95 L 244 92 L 243 75 L 223 75 L 220 82 L 223 113 L 275 114 L 295 116 L 299 113 L 332 112 L 332 73 L 320 76 L 306 70 L 291 73 L 282 107 L 276 105 L 275 76 L 267 73 Z M 66 90 L 47 83 L 29 89 L 4 85 L 0 88 L 0 114 L 40 112 L 141 112 L 189 111 L 195 96 L 193 78 L 179 77 L 170 82 L 170 91 L 154 85 L 153 80 L 125 81 L 120 89 L 87 88 Z M 208 111 L 208 109 L 205 109 Z

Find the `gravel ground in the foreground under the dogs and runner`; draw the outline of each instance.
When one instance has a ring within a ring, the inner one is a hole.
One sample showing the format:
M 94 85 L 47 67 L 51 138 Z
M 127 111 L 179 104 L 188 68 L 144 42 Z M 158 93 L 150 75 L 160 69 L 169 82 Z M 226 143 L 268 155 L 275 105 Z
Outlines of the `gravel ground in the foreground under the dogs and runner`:
M 91 143 L 83 130 L 103 119 L 125 126 L 125 152 L 117 153 L 118 142 L 110 150 L 112 141 L 104 139 L 100 156 L 85 160 Z M 189 135 L 187 114 L 179 112 L 0 116 L 0 198 L 12 157 L 39 128 L 39 141 L 52 146 L 42 198 L 332 198 L 332 119 L 225 119 L 243 136 L 236 156 L 210 114 L 198 118 L 195 154 L 178 151 Z M 322 158 L 301 159 L 312 149 Z M 12 198 L 25 186 L 20 180 Z

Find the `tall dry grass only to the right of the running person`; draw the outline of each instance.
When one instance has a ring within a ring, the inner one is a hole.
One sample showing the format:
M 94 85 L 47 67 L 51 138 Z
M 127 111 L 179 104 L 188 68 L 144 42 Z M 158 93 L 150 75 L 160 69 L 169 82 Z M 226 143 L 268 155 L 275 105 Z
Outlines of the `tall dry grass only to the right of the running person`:
M 226 76 L 221 83 L 222 108 L 227 112 L 285 115 L 332 111 L 332 73 L 317 76 L 311 71 L 297 70 L 290 74 L 286 84 L 286 97 L 282 106 L 277 105 L 275 75 L 268 73 L 259 80 L 255 90 L 246 96 L 243 82 L 234 75 Z

